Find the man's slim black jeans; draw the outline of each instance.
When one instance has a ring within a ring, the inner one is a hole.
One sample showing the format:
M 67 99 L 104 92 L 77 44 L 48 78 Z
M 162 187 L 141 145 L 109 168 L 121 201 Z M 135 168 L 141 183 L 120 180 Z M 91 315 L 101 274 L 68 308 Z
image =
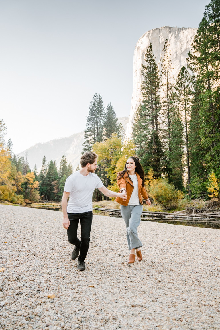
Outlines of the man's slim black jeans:
M 89 249 L 90 231 L 92 226 L 92 211 L 83 213 L 67 213 L 70 220 L 69 229 L 67 229 L 68 241 L 70 244 L 79 247 L 80 240 L 77 237 L 77 229 L 80 221 L 81 225 L 81 248 L 79 252 L 79 261 L 84 261 Z

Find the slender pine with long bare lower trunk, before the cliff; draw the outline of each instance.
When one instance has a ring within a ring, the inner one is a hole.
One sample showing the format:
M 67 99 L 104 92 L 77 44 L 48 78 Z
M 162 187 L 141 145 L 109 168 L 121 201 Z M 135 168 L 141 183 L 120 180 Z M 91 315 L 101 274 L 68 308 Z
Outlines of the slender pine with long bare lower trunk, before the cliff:
M 191 198 L 190 189 L 190 159 L 189 159 L 189 138 L 188 138 L 188 118 L 190 117 L 192 99 L 192 87 L 191 87 L 191 77 L 183 66 L 176 79 L 175 84 L 175 101 L 176 107 L 178 109 L 178 117 L 183 119 L 184 130 L 185 130 L 185 148 L 186 148 L 186 162 L 187 162 L 187 176 L 188 176 L 188 187 L 189 187 L 189 197 Z M 181 121 L 181 120 L 180 120 Z M 182 123 L 182 122 L 181 122 Z M 176 130 L 177 133 L 181 132 L 181 129 Z M 181 142 L 180 142 L 181 144 Z M 183 150 L 182 150 L 183 155 Z

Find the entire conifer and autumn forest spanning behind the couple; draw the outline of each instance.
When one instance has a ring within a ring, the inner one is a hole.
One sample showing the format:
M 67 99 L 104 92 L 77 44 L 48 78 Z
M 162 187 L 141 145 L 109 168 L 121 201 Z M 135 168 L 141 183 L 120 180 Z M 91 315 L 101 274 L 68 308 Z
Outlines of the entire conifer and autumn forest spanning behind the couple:
M 220 0 L 205 6 L 204 16 L 188 53 L 187 67 L 177 79 L 168 40 L 159 64 L 152 44 L 141 68 L 141 99 L 132 139 L 125 138 L 114 109 L 95 94 L 89 106 L 82 153 L 98 154 L 96 174 L 109 189 L 118 191 L 117 173 L 129 156 L 137 155 L 144 168 L 152 200 L 164 209 L 180 199 L 219 198 L 220 182 Z M 73 169 L 65 154 L 57 168 L 54 160 L 42 160 L 29 168 L 27 157 L 13 153 L 5 141 L 6 126 L 0 119 L 0 200 L 21 204 L 25 200 L 60 201 L 66 178 Z M 95 190 L 93 199 L 106 198 Z

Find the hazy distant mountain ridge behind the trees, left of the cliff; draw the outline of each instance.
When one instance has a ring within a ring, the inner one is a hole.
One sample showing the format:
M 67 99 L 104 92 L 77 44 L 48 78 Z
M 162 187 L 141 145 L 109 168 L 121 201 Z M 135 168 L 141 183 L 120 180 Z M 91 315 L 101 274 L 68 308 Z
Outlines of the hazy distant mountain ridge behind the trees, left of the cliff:
M 118 121 L 122 123 L 126 130 L 129 117 L 120 117 Z M 77 165 L 80 166 L 80 157 L 82 152 L 82 144 L 85 141 L 84 132 L 75 133 L 66 138 L 54 139 L 44 143 L 36 143 L 34 146 L 18 153 L 19 156 L 26 157 L 30 168 L 33 170 L 36 164 L 38 171 L 41 170 L 41 162 L 45 156 L 47 161 L 55 160 L 59 165 L 62 155 L 65 153 L 68 163 L 71 162 L 74 171 Z

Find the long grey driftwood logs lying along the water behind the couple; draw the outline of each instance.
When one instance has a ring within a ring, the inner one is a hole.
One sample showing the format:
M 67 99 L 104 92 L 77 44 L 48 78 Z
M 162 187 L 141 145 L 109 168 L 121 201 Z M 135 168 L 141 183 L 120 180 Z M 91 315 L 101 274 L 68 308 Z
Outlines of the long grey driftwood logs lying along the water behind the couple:
M 110 216 L 121 217 L 121 211 L 115 209 L 102 209 L 102 208 L 93 208 L 93 210 L 100 211 L 102 213 L 108 213 Z M 190 220 L 193 221 L 213 221 L 220 220 L 220 215 L 213 214 L 185 214 L 185 213 L 169 213 L 169 212 L 150 212 L 143 211 L 141 215 L 141 220 L 149 220 L 149 218 L 160 218 L 163 220 L 166 219 L 181 219 L 181 220 Z

